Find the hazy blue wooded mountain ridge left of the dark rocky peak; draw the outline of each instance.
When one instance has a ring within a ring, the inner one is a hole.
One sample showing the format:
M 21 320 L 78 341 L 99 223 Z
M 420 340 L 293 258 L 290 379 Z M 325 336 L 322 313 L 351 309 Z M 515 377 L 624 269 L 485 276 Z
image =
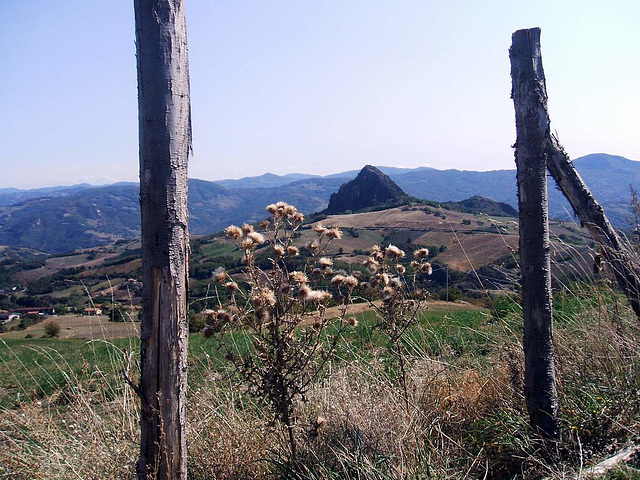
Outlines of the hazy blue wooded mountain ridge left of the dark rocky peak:
M 189 181 L 190 231 L 206 234 L 229 224 L 266 218 L 265 207 L 280 200 L 306 213 L 324 209 L 341 179 L 310 178 L 273 188 L 228 189 Z M 138 185 L 85 189 L 0 207 L 0 245 L 51 253 L 110 243 L 140 234 Z

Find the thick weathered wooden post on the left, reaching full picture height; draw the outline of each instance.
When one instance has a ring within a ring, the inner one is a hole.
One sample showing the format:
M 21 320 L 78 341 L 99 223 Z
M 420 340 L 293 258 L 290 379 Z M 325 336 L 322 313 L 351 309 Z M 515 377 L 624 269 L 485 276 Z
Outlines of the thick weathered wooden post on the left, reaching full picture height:
M 134 0 L 142 214 L 140 479 L 186 479 L 189 64 L 182 0 Z

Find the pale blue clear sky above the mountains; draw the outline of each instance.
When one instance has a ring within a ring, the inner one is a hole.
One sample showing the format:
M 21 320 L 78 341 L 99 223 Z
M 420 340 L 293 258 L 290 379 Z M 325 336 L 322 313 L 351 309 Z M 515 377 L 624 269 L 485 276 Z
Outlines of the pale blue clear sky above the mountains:
M 508 48 L 542 28 L 572 157 L 640 160 L 637 0 L 185 0 L 190 177 L 515 168 Z M 138 177 L 133 0 L 0 0 L 0 187 Z

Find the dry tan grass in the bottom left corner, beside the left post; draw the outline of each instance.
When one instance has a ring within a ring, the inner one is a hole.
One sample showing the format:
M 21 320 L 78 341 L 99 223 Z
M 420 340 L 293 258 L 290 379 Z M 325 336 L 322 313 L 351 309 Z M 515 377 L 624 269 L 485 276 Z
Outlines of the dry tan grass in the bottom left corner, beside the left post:
M 136 418 L 88 399 L 3 411 L 0 478 L 134 478 Z

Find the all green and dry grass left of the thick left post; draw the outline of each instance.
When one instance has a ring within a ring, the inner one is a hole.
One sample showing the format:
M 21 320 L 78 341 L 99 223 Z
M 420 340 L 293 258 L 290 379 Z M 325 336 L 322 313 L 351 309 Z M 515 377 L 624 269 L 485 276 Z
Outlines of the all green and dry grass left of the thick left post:
M 107 343 L 84 348 L 78 364 L 67 356 L 69 341 L 55 342 L 59 349 L 12 343 L 0 345 L 18 380 L 0 410 L 0 476 L 129 478 L 137 406 L 119 372 L 130 367 L 130 351 Z

